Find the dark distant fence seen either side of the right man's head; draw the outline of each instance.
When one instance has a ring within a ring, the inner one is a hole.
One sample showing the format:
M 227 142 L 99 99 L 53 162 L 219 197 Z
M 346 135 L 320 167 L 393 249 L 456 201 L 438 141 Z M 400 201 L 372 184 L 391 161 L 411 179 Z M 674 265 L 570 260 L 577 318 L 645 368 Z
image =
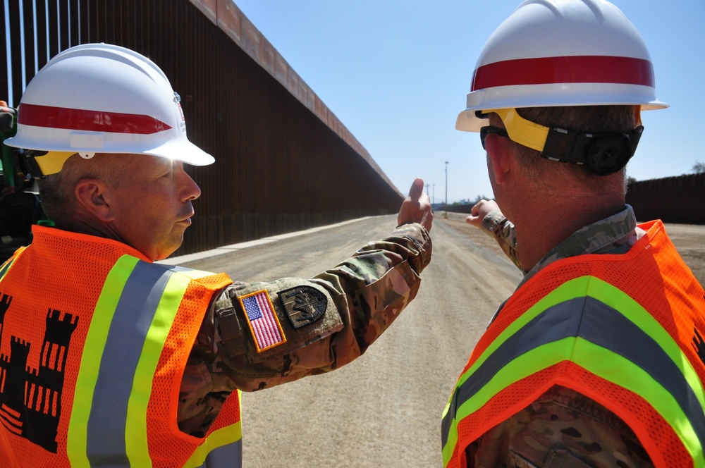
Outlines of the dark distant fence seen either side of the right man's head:
M 627 190 L 639 221 L 705 224 L 705 173 L 632 182 Z M 452 213 L 470 213 L 472 204 L 450 205 Z M 445 211 L 437 207 L 436 212 Z

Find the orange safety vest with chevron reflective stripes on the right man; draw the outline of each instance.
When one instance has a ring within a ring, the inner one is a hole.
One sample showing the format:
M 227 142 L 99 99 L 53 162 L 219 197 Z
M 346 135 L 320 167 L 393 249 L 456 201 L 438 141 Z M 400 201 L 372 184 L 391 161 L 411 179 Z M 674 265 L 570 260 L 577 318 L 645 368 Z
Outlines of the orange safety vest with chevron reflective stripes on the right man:
M 625 254 L 546 266 L 480 338 L 443 412 L 443 464 L 554 385 L 621 417 L 656 467 L 703 467 L 705 293 L 661 221 Z

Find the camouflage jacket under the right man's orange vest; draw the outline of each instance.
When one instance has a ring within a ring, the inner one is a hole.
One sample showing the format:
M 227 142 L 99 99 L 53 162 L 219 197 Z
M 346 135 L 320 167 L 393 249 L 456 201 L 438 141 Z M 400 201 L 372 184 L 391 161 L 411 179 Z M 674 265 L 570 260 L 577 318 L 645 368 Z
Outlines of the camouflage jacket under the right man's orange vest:
M 514 228 L 499 211 L 483 220 L 502 250 L 521 268 Z M 486 222 L 485 222 L 486 221 Z M 644 234 L 632 207 L 585 226 L 541 259 L 520 285 L 551 262 L 581 254 L 627 252 Z M 500 312 L 498 309 L 495 316 Z M 569 388 L 553 386 L 467 448 L 472 467 L 652 467 L 649 455 L 620 417 Z

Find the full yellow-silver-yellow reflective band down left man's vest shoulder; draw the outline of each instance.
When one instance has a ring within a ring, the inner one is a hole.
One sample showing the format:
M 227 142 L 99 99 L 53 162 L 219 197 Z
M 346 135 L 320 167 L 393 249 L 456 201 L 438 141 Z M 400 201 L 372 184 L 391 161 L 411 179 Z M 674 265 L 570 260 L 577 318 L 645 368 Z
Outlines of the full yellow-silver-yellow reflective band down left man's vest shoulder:
M 67 441 L 72 465 L 152 466 L 147 446 L 152 381 L 189 283 L 188 276 L 173 269 L 127 255 L 111 269 L 76 383 Z M 116 380 L 116 374 L 125 379 Z

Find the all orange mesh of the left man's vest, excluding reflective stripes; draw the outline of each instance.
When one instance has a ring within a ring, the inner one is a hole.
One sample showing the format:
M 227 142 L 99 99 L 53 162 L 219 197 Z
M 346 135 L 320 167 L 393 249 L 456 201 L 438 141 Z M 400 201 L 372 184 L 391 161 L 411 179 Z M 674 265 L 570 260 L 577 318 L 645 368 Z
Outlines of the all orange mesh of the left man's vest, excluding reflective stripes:
M 94 238 L 50 228 L 34 227 L 35 240 L 12 264 L 0 281 L 0 293 L 12 295 L 11 307 L 0 328 L 1 355 L 9 355 L 10 335 L 18 336 L 30 347 L 27 367 L 39 369 L 47 311 L 56 309 L 61 316 L 78 316 L 76 329 L 68 347 L 64 373 L 63 395 L 60 402 L 51 400 L 49 412 L 61 412 L 56 435 L 56 454 L 48 452 L 24 437 L 9 436 L 7 424 L 0 426 L 0 466 L 68 467 L 67 433 L 73 409 L 72 387 L 82 363 L 86 336 L 94 308 L 104 289 L 104 283 L 116 260 L 123 255 L 148 261 L 140 252 L 113 240 Z M 152 268 L 152 266 L 150 266 Z M 168 267 L 153 265 L 166 271 Z M 181 273 L 173 273 L 181 274 Z M 157 375 L 147 406 L 147 440 L 154 467 L 180 466 L 188 460 L 203 439 L 187 436 L 176 426 L 176 404 L 183 365 L 188 359 L 204 311 L 215 290 L 231 283 L 225 274 L 203 276 L 188 283 L 178 306 L 176 320 L 171 324 L 166 343 L 159 357 Z M 119 294 L 120 291 L 113 291 Z M 0 300 L 2 297 L 1 296 Z M 59 360 L 58 351 L 50 359 Z M 0 359 L 2 359 L 0 357 Z M 1 369 L 0 369 L 1 371 Z M 54 397 L 51 397 L 54 398 Z M 209 433 L 240 420 L 237 392 L 229 398 Z M 129 429 L 128 429 L 129 430 Z M 13 461 L 12 461 L 13 460 Z M 178 463 L 175 460 L 183 460 Z M 236 460 L 239 462 L 239 460 Z

